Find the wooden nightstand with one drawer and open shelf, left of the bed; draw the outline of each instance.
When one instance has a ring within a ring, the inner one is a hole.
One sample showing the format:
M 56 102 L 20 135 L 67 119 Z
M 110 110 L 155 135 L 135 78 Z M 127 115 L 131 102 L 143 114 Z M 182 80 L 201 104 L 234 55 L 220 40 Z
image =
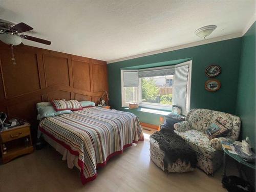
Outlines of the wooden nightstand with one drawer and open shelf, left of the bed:
M 6 150 L 4 150 L 3 145 L 6 146 Z M 30 124 L 25 123 L 0 132 L 0 146 L 3 163 L 7 163 L 20 155 L 32 153 L 34 149 Z

